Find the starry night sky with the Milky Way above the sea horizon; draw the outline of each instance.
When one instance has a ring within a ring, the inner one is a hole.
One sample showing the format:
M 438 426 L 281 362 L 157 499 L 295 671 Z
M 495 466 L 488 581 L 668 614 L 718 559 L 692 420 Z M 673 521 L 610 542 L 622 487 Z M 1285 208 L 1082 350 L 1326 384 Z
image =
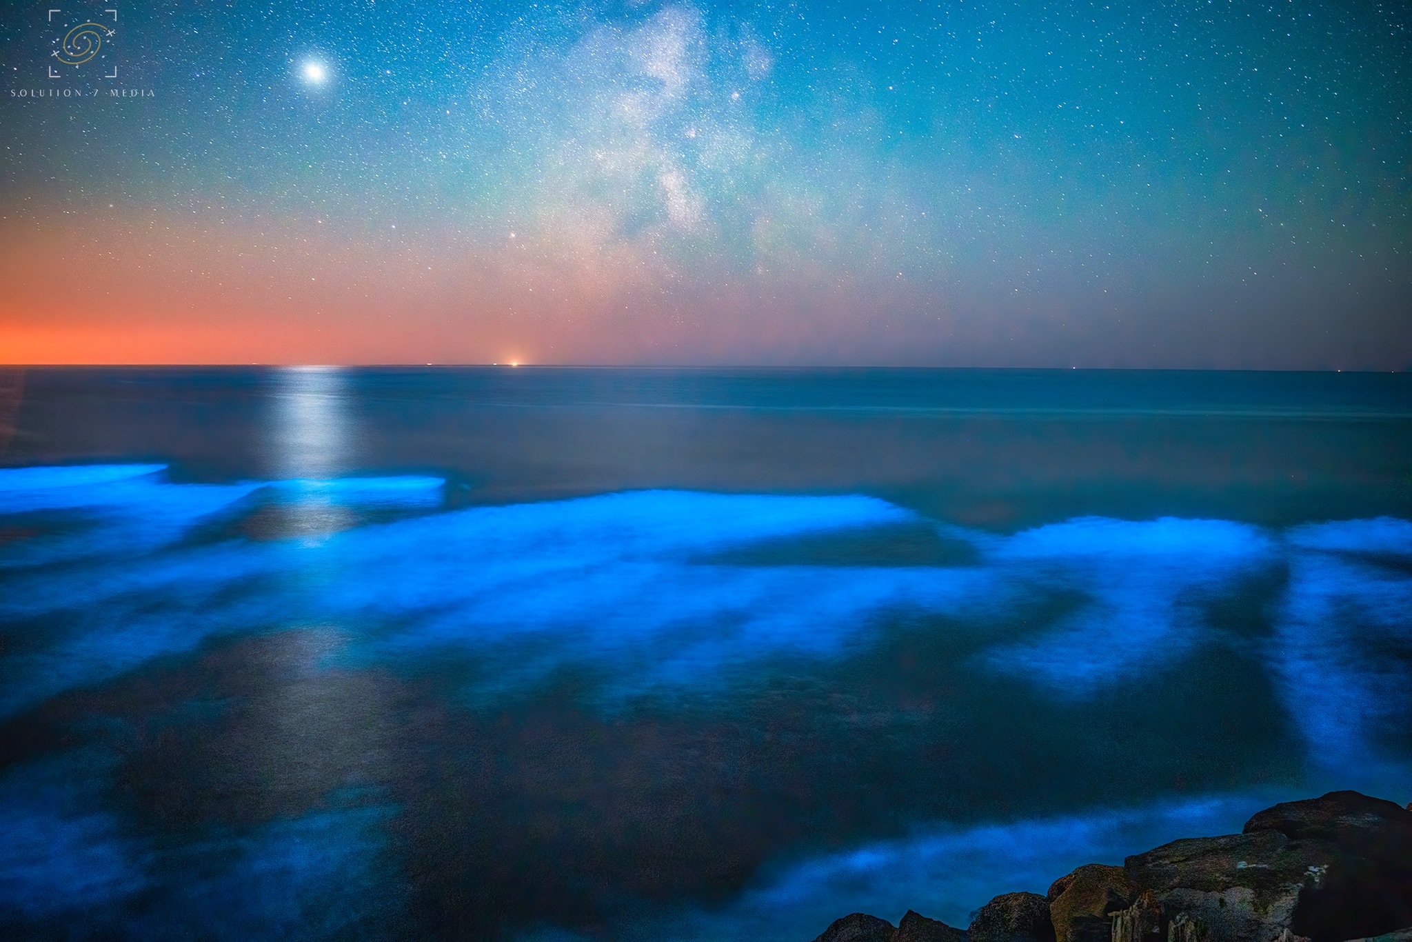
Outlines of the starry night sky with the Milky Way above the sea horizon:
M 4 362 L 1412 369 L 1404 4 L 58 3 Z

